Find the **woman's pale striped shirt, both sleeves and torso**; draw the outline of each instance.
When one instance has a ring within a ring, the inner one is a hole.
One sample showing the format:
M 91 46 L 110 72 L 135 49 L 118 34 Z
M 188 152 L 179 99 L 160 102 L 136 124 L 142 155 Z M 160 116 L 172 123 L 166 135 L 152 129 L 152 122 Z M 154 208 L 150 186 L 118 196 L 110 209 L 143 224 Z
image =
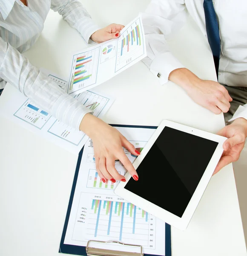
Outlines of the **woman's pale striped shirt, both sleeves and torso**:
M 21 53 L 29 49 L 43 30 L 49 9 L 77 29 L 86 42 L 99 29 L 78 0 L 0 0 L 0 89 L 9 82 L 40 108 L 79 129 L 91 112 L 34 67 Z

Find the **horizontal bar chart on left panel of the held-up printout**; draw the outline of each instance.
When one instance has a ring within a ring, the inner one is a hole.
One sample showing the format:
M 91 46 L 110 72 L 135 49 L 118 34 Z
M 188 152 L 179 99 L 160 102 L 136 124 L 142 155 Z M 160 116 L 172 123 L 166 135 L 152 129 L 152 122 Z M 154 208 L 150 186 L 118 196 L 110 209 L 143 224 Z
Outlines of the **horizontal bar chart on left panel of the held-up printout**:
M 100 47 L 73 56 L 68 93 L 95 84 Z

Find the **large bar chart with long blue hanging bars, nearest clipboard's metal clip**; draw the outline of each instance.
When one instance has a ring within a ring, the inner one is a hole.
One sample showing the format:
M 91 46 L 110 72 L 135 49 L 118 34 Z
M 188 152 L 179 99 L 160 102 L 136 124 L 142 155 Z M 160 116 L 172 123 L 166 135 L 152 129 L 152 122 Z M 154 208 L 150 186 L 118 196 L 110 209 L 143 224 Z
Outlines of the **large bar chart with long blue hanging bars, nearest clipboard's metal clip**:
M 91 198 L 88 196 L 80 198 L 73 239 L 117 240 L 155 249 L 156 218 L 154 216 L 122 198 L 112 200 L 116 199 L 113 196 L 109 197 L 112 198 L 111 200 L 102 200 L 98 198 L 101 196 L 89 195 Z M 82 224 L 84 233 L 80 232 Z

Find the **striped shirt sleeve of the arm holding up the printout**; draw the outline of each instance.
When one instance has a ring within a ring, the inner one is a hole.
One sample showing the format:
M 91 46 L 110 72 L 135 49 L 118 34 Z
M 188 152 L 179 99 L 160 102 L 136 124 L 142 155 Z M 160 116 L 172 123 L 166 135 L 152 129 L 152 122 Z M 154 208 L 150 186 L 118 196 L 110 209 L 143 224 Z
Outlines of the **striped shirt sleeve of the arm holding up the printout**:
M 70 26 L 77 29 L 86 43 L 94 32 L 101 29 L 92 21 L 91 16 L 78 0 L 52 0 L 51 9 L 62 15 Z

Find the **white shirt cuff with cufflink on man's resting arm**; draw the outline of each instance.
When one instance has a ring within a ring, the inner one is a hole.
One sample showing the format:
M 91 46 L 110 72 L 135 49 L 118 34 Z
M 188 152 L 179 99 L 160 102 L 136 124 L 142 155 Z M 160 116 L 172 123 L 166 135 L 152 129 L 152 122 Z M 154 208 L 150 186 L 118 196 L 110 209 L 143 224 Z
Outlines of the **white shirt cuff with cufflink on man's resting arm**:
M 161 84 L 165 84 L 168 82 L 169 74 L 173 70 L 183 67 L 184 65 L 171 52 L 163 52 L 152 61 L 150 71 L 159 78 Z

